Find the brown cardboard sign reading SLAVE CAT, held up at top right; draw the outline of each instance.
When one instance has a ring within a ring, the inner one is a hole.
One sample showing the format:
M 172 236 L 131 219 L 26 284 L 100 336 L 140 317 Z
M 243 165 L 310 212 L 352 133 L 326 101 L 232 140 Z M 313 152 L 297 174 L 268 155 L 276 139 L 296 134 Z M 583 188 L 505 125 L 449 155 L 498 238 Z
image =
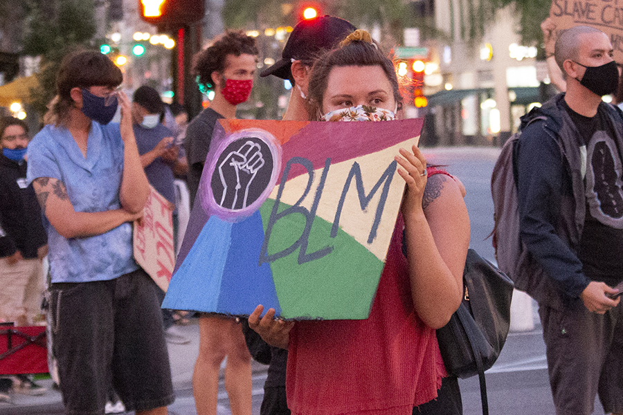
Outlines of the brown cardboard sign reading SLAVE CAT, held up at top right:
M 614 59 L 623 63 L 623 1 L 552 0 L 550 17 L 556 24 L 556 38 L 573 26 L 591 26 L 610 37 Z

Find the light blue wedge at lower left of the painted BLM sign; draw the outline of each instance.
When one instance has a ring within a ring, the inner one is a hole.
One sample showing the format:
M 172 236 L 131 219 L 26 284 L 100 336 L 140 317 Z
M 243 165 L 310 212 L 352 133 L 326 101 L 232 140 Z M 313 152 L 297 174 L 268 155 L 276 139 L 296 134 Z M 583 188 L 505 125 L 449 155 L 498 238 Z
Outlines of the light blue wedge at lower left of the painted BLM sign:
M 217 216 L 210 216 L 177 273 L 173 275 L 162 303 L 163 308 L 217 311 L 218 298 L 206 293 L 221 291 L 231 246 L 232 225 Z

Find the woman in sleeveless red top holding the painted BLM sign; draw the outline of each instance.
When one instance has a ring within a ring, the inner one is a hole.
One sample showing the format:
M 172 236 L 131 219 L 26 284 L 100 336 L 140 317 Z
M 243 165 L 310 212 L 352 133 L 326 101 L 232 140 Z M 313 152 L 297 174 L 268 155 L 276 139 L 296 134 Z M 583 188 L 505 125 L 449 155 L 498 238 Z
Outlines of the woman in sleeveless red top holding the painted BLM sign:
M 311 118 L 328 121 L 392 120 L 401 102 L 392 62 L 363 30 L 314 65 L 308 99 Z M 467 208 L 460 183 L 427 169 L 415 145 L 395 160 L 406 192 L 370 317 L 285 322 L 271 309 L 260 320 L 262 306 L 249 317 L 289 349 L 294 414 L 411 414 L 446 375 L 435 329 L 460 304 Z

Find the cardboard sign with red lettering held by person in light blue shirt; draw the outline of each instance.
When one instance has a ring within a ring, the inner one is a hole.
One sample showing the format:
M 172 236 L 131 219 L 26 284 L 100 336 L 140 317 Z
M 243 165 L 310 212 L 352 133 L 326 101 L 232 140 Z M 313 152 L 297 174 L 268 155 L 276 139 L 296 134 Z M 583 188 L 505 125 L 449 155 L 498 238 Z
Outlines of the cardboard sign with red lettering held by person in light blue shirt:
M 167 199 L 150 186 L 145 216 L 134 222 L 134 259 L 167 291 L 175 265 L 173 250 L 173 210 Z

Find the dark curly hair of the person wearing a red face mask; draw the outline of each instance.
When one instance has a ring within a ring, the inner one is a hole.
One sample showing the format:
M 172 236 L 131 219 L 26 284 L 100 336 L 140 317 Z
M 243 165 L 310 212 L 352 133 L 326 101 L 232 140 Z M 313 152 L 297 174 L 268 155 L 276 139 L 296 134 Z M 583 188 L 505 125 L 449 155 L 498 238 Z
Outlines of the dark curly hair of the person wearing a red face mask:
M 212 73 L 225 70 L 227 55 L 240 56 L 243 53 L 254 56 L 260 54 L 255 46 L 255 38 L 247 36 L 242 30 L 227 30 L 211 46 L 195 55 L 192 73 L 197 76 L 197 82 L 205 86 L 206 91 L 211 91 L 215 85 Z

